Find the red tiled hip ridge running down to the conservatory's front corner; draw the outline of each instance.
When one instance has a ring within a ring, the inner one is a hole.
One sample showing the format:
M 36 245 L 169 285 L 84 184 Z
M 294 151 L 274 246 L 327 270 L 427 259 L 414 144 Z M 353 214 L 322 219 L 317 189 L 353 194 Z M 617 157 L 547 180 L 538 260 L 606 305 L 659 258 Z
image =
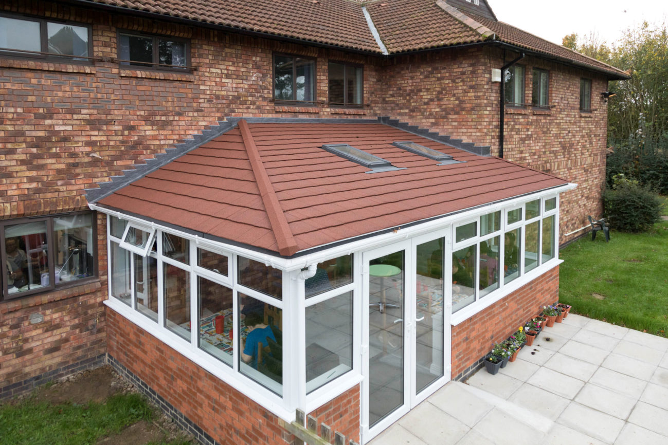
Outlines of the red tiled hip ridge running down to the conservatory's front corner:
M 260 157 L 260 151 L 257 149 L 257 145 L 255 145 L 251 129 L 248 127 L 248 123 L 245 119 L 240 119 L 238 121 L 238 126 L 241 131 L 241 138 L 244 141 L 244 147 L 246 147 L 246 153 L 248 153 L 248 160 L 251 161 L 251 167 L 253 168 L 253 174 L 255 174 L 255 179 L 257 180 L 257 186 L 260 189 L 262 201 L 267 210 L 269 224 L 271 224 L 272 232 L 279 246 L 279 254 L 283 256 L 292 256 L 299 251 L 299 248 L 297 247 L 295 237 L 290 230 L 290 225 L 285 217 L 285 213 L 283 213 L 281 203 L 276 195 L 271 179 L 269 179 L 267 170 L 265 170 L 265 165 Z

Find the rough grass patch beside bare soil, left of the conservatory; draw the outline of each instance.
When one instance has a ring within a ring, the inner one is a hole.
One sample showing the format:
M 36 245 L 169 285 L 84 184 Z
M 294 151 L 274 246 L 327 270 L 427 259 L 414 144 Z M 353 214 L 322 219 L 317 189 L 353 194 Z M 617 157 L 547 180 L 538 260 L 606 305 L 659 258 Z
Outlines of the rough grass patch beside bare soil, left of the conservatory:
M 3 445 L 95 444 L 139 420 L 151 420 L 152 408 L 139 394 L 116 394 L 105 403 L 51 405 L 31 397 L 0 406 Z

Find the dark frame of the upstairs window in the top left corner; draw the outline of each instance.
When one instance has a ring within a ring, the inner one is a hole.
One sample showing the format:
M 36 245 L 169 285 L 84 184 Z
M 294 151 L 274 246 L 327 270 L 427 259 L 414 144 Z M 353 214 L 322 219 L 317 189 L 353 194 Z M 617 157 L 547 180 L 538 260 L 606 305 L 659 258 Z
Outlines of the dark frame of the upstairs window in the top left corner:
M 7 19 L 23 20 L 23 21 L 33 21 L 39 23 L 39 46 L 40 51 L 32 52 L 25 51 L 21 49 L 0 49 L 0 57 L 21 57 L 22 59 L 37 59 L 37 60 L 48 60 L 48 61 L 62 61 L 64 63 L 73 63 L 73 64 L 86 64 L 90 65 L 92 59 L 95 57 L 93 54 L 93 26 L 89 23 L 81 23 L 78 21 L 72 20 L 59 20 L 59 19 L 47 19 L 44 17 L 35 17 L 32 15 L 21 15 L 6 13 L 0 11 L 0 17 L 6 17 Z M 57 54 L 49 53 L 45 51 L 49 49 L 49 39 L 48 39 L 48 26 L 49 23 L 56 23 L 58 25 L 72 25 L 77 27 L 86 28 L 88 30 L 88 55 L 71 55 L 71 54 Z

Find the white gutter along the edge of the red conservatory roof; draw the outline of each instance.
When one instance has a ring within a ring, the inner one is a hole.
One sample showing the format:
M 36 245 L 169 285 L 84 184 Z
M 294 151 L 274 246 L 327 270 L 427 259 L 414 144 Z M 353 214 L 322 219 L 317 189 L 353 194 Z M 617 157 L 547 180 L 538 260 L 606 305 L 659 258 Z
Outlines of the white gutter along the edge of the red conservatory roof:
M 462 219 L 467 219 L 474 215 L 479 215 L 480 213 L 488 213 L 490 211 L 500 210 L 503 207 L 512 206 L 516 203 L 528 201 L 530 200 L 529 197 L 533 197 L 533 199 L 536 199 L 537 197 L 542 197 L 544 195 L 563 193 L 564 191 L 572 190 L 575 187 L 577 187 L 576 183 L 568 183 L 565 185 L 561 185 L 560 187 L 554 187 L 551 189 L 537 191 L 535 193 L 528 193 L 527 195 L 522 195 L 520 197 L 507 199 L 500 202 L 489 203 L 487 205 L 482 205 L 474 209 L 462 211 L 454 215 L 453 214 L 444 215 L 443 217 L 437 216 L 435 218 L 430 218 L 429 221 L 426 221 L 422 224 L 411 223 L 413 225 L 405 229 L 399 227 L 395 229 L 393 232 L 385 232 L 375 236 L 369 236 L 361 240 L 357 239 L 359 237 L 349 238 L 349 240 L 351 240 L 351 242 L 349 243 L 345 243 L 346 240 L 339 240 L 336 242 L 337 244 L 341 242 L 344 242 L 345 244 L 341 244 L 339 246 L 335 246 L 329 249 L 319 250 L 318 252 L 314 252 L 313 254 L 307 254 L 299 258 L 281 258 L 279 256 L 262 254 L 261 252 L 256 252 L 255 250 L 242 248 L 240 246 L 232 246 L 231 244 L 226 244 L 224 242 L 206 240 L 199 236 L 192 236 L 188 234 L 185 234 L 184 238 L 194 239 L 194 242 L 198 246 L 208 246 L 209 248 L 213 248 L 215 250 L 225 250 L 227 252 L 234 252 L 234 254 L 239 254 L 246 258 L 250 258 L 251 260 L 264 263 L 265 266 L 271 266 L 273 268 L 285 270 L 286 272 L 291 272 L 293 270 L 301 270 L 303 268 L 309 268 L 309 266 L 312 266 L 313 264 L 318 264 L 331 258 L 337 258 L 339 256 L 349 255 L 352 254 L 353 252 L 358 252 L 361 250 L 369 250 L 371 248 L 383 246 L 385 244 L 391 244 L 393 242 L 406 240 L 407 238 L 411 238 L 413 236 L 418 236 L 426 234 L 428 232 L 433 232 L 434 230 L 445 228 L 450 224 L 452 224 L 453 222 Z M 94 203 L 89 203 L 88 207 L 90 207 L 91 210 L 100 211 L 108 215 L 114 215 L 119 219 L 126 219 L 127 221 L 132 221 L 134 223 L 142 224 L 144 226 L 148 224 L 149 226 L 157 230 L 161 231 L 164 230 L 165 232 L 170 232 L 170 233 L 175 233 L 175 232 L 178 233 L 178 230 L 175 230 L 174 228 L 169 228 L 167 226 L 162 226 L 161 224 L 149 222 L 146 221 L 146 219 L 138 218 L 136 216 L 126 215 L 125 213 L 121 213 L 116 210 L 106 209 Z M 327 244 L 323 246 L 327 246 Z

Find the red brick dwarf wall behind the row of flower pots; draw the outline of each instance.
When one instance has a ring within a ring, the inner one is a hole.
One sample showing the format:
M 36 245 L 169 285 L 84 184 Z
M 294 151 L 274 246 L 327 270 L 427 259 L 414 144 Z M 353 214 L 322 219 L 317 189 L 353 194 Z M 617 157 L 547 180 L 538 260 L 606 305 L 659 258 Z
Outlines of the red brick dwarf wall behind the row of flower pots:
M 559 268 L 545 272 L 529 284 L 452 327 L 451 378 L 465 377 L 476 369 L 495 342 L 510 337 L 534 318 L 543 306 L 559 299 Z

